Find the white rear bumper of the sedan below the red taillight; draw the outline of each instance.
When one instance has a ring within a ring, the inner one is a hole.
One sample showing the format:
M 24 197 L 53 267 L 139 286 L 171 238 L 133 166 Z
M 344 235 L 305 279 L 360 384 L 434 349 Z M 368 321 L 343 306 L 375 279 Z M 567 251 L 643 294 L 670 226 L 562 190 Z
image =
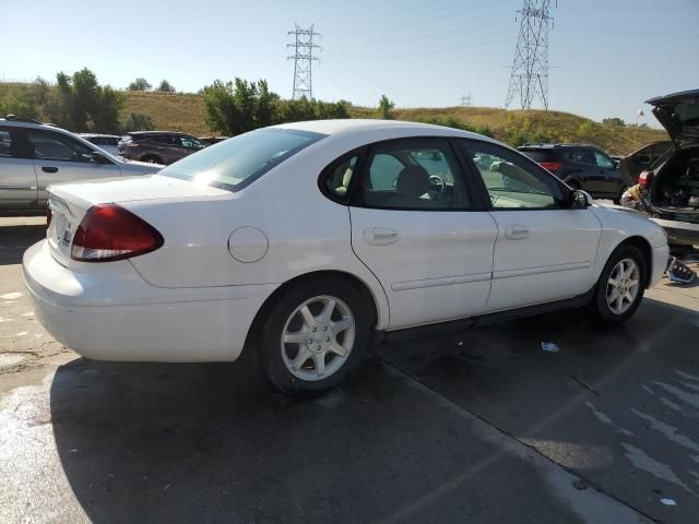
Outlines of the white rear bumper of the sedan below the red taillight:
M 25 252 L 23 275 L 42 325 L 63 345 L 97 360 L 235 360 L 254 315 L 276 287 L 156 288 L 132 266 L 114 272 L 64 267 L 45 240 Z

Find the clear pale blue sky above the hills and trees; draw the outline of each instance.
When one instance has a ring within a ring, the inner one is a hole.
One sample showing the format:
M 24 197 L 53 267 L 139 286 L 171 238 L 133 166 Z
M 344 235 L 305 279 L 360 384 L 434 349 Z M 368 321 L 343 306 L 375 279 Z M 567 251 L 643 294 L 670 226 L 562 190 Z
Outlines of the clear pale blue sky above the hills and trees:
M 287 32 L 298 23 L 322 34 L 317 98 L 435 107 L 470 94 L 502 107 L 522 3 L 0 0 L 0 80 L 87 67 L 120 88 L 144 76 L 196 92 L 241 76 L 289 97 Z M 559 0 L 550 14 L 553 109 L 632 122 L 647 98 L 699 88 L 699 0 Z M 641 123 L 656 126 L 645 109 Z

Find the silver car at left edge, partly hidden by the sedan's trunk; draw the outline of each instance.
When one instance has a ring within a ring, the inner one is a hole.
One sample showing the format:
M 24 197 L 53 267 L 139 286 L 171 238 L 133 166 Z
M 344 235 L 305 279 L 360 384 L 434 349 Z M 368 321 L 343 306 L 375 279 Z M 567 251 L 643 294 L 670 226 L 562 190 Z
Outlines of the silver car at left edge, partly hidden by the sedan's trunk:
M 112 156 L 54 126 L 0 117 L 0 213 L 45 210 L 52 183 L 150 175 L 162 168 Z

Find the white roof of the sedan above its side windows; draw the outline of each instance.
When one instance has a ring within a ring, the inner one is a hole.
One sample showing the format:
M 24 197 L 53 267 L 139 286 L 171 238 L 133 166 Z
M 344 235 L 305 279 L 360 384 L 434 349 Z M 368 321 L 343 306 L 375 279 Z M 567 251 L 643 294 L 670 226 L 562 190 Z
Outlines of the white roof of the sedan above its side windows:
M 367 131 L 401 131 L 402 133 L 415 136 L 425 134 L 437 134 L 445 136 L 463 136 L 470 139 L 488 140 L 496 142 L 471 131 L 461 131 L 443 126 L 431 123 L 407 122 L 404 120 L 371 120 L 362 118 L 337 119 L 337 120 L 310 120 L 306 122 L 289 122 L 274 126 L 280 129 L 295 129 L 299 131 L 310 131 L 315 133 L 333 135 L 362 134 Z

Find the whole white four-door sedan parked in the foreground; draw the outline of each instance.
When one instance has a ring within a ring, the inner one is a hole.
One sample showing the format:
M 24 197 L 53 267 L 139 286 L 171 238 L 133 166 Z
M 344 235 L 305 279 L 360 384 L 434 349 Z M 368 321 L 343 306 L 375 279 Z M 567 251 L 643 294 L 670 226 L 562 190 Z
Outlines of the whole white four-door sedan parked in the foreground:
M 668 254 L 659 226 L 510 147 L 399 121 L 257 130 L 157 175 L 54 186 L 50 209 L 24 279 L 58 341 L 103 360 L 245 347 L 294 395 L 400 330 L 583 306 L 623 322 Z

